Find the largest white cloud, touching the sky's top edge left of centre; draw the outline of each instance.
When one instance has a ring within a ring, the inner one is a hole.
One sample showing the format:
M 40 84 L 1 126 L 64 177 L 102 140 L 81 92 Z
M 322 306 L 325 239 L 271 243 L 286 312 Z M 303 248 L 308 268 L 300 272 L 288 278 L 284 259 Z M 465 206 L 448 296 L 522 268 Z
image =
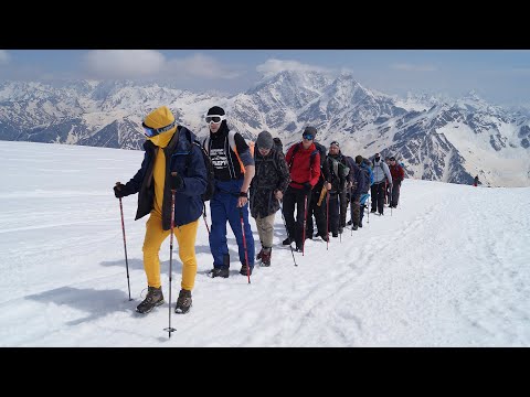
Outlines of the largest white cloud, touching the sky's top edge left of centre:
M 135 78 L 162 71 L 166 58 L 153 50 L 94 50 L 85 55 L 85 63 L 98 78 Z

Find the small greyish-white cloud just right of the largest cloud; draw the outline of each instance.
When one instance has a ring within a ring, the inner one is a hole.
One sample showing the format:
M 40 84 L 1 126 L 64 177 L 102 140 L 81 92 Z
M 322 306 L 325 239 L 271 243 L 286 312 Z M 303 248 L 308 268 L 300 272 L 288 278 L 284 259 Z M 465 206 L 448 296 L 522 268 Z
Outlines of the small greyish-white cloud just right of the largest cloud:
M 222 65 L 214 57 L 200 53 L 169 61 L 166 71 L 168 75 L 189 78 L 232 79 L 241 75 L 240 72 Z

